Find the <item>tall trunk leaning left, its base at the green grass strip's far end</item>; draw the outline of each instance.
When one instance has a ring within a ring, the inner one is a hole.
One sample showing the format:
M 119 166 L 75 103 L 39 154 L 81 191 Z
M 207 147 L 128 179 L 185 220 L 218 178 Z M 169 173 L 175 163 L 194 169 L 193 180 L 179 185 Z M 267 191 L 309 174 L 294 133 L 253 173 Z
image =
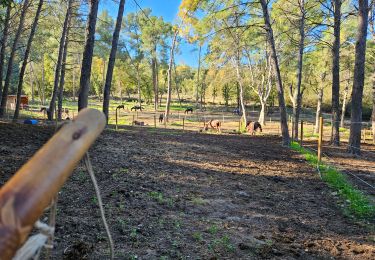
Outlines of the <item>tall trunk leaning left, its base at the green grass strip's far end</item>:
M 281 80 L 279 61 L 276 55 L 275 40 L 273 38 L 273 31 L 272 31 L 271 21 L 270 21 L 270 17 L 268 13 L 267 0 L 260 0 L 260 4 L 263 10 L 263 18 L 264 18 L 265 29 L 267 32 L 267 40 L 270 46 L 270 54 L 272 57 L 273 66 L 274 66 L 273 68 L 275 70 L 275 75 L 276 75 L 276 87 L 277 87 L 277 94 L 279 98 L 279 108 L 280 108 L 280 126 L 281 126 L 282 138 L 283 138 L 282 143 L 285 146 L 289 146 L 290 138 L 289 138 L 289 131 L 288 131 L 288 123 L 287 123 L 287 118 L 286 118 L 286 107 L 285 107 L 283 83 Z

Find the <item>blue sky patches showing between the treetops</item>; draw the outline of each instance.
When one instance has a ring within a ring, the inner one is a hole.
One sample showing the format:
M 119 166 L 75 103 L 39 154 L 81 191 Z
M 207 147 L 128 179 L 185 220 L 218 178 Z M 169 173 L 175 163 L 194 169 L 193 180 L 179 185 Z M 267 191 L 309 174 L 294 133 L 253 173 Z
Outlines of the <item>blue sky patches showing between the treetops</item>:
M 178 7 L 180 6 L 181 0 L 136 0 L 142 9 L 151 8 L 152 15 L 162 16 L 165 21 L 175 21 L 178 13 Z M 104 0 L 101 1 L 99 6 L 99 12 L 106 9 L 109 14 L 116 20 L 118 11 L 118 1 Z M 126 16 L 130 12 L 139 11 L 139 8 L 135 4 L 135 0 L 126 0 L 125 3 L 125 14 Z M 192 67 L 198 65 L 198 51 L 197 47 L 191 45 L 184 40 L 181 42 L 180 53 L 175 54 L 176 64 L 186 64 Z

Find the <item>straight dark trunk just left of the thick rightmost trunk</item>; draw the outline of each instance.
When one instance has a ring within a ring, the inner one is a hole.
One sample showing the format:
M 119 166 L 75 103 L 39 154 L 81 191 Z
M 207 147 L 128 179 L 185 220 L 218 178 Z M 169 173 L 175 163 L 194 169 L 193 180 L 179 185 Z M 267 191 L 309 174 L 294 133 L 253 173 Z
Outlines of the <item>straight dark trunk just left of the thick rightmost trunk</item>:
M 334 42 L 332 46 L 332 136 L 335 146 L 340 145 L 340 24 L 342 0 L 334 1 Z

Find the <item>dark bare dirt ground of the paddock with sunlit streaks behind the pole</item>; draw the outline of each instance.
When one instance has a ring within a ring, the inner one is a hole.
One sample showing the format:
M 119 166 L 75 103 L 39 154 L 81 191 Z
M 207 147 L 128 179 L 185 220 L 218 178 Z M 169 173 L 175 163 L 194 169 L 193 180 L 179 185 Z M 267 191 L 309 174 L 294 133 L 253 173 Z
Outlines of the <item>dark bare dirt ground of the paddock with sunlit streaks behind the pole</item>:
M 53 128 L 0 123 L 0 185 Z M 127 127 L 90 150 L 116 259 L 374 259 L 356 221 L 277 137 Z M 106 259 L 83 165 L 59 195 L 54 259 Z

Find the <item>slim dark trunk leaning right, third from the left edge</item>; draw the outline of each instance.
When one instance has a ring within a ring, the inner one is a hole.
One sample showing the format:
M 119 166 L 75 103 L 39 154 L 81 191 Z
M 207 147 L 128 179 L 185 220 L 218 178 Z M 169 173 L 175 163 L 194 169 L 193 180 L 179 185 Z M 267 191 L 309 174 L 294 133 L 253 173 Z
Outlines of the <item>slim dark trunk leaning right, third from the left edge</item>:
M 39 17 L 40 17 L 40 13 L 42 11 L 43 2 L 44 2 L 43 0 L 39 0 L 38 8 L 37 8 L 36 13 L 35 13 L 34 22 L 33 22 L 33 25 L 31 26 L 29 39 L 27 40 L 26 50 L 25 50 L 25 54 L 24 54 L 24 57 L 23 57 L 20 74 L 19 74 L 19 77 L 18 77 L 17 102 L 16 102 L 16 110 L 14 111 L 14 115 L 13 115 L 13 120 L 17 120 L 18 116 L 19 116 L 19 113 L 20 113 L 21 94 L 22 94 L 22 87 L 23 87 L 23 77 L 25 75 L 27 61 L 29 60 L 31 45 L 33 43 L 36 27 L 38 26 L 38 20 L 39 20 Z M 32 95 L 32 99 L 34 100 L 34 95 Z

